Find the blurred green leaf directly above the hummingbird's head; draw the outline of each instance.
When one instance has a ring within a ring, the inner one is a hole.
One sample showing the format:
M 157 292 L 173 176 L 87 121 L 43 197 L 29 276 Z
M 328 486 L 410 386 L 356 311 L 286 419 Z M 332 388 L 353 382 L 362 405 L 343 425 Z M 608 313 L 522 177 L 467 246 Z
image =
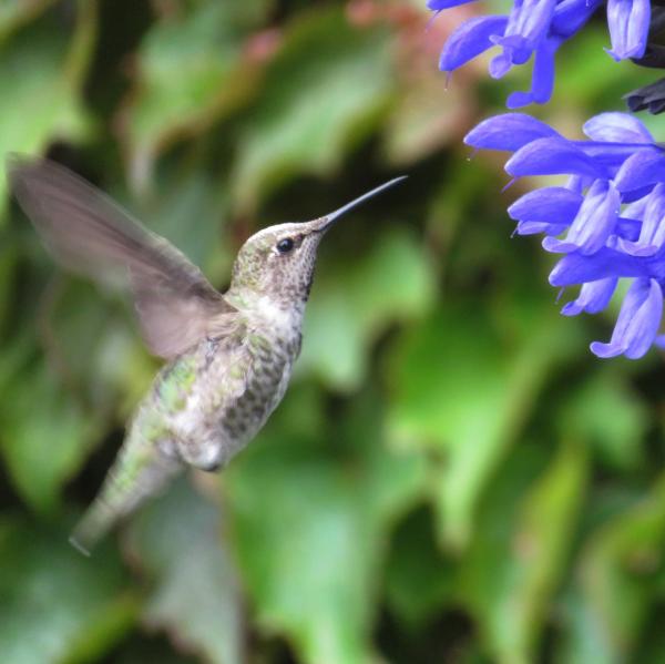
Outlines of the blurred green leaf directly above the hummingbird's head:
M 310 12 L 285 34 L 247 120 L 233 174 L 237 207 L 299 173 L 330 173 L 375 126 L 392 76 L 382 30 L 354 28 L 341 8 Z

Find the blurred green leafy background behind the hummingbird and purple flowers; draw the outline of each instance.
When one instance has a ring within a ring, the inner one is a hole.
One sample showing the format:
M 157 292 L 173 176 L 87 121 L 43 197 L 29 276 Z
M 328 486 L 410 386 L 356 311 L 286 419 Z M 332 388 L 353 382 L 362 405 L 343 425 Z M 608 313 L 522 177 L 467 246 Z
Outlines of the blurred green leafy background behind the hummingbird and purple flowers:
M 590 354 L 616 308 L 557 314 L 551 257 L 510 239 L 529 183 L 461 144 L 529 72 L 446 90 L 444 37 L 487 8 L 423 4 L 0 3 L 0 153 L 70 165 L 221 288 L 253 231 L 409 174 L 326 237 L 265 430 L 91 559 L 69 529 L 158 365 L 0 181 L 4 662 L 665 660 L 662 358 Z M 535 111 L 571 136 L 652 78 L 607 42 L 601 17 Z

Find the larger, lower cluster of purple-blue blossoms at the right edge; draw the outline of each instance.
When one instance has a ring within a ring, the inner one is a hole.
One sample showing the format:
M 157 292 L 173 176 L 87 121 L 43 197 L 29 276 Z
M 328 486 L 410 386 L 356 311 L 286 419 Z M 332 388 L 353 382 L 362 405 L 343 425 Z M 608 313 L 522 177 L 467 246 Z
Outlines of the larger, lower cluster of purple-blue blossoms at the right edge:
M 598 357 L 642 357 L 657 338 L 665 288 L 665 151 L 634 116 L 601 113 L 572 141 L 521 113 L 481 122 L 464 137 L 475 149 L 505 150 L 513 177 L 565 175 L 563 186 L 530 192 L 509 207 L 518 235 L 543 233 L 545 251 L 563 254 L 553 286 L 581 285 L 562 314 L 597 314 L 620 279 L 632 282 L 612 338 Z

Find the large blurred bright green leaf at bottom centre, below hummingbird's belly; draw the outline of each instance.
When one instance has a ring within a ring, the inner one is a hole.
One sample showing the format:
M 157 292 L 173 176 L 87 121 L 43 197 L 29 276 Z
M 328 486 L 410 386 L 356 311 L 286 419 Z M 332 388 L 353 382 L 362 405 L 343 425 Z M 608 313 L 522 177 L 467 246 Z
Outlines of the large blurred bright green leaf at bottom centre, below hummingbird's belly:
M 421 460 L 378 447 L 376 407 L 361 401 L 334 433 L 337 453 L 320 449 L 320 430 L 295 437 L 277 418 L 224 476 L 259 624 L 303 662 L 370 661 L 382 541 L 422 488 Z

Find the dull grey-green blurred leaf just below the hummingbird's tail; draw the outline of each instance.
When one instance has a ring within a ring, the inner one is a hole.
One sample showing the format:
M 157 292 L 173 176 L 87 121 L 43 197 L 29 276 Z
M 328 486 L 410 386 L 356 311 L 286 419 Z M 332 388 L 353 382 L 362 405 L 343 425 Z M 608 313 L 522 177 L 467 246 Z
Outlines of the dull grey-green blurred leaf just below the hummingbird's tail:
M 208 662 L 244 662 L 241 597 L 218 508 L 183 479 L 137 515 L 130 535 L 132 558 L 152 579 L 145 623 Z

